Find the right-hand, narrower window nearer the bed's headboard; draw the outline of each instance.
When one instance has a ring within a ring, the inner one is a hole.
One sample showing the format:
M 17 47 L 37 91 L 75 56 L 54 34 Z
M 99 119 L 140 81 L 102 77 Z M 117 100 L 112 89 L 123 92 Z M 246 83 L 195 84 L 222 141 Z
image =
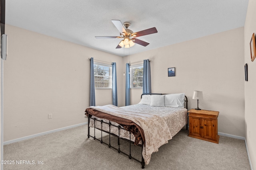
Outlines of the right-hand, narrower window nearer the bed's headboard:
M 142 88 L 143 64 L 130 67 L 130 88 Z

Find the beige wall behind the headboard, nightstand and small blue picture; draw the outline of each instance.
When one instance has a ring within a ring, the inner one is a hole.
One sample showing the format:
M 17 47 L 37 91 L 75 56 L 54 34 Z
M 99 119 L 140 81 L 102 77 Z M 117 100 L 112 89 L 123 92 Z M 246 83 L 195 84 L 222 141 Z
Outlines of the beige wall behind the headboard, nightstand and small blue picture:
M 244 28 L 178 43 L 125 57 L 130 63 L 150 59 L 152 92 L 181 93 L 188 109 L 196 108 L 194 90 L 203 91 L 201 109 L 220 111 L 218 132 L 245 137 L 244 133 Z M 167 70 L 176 68 L 176 76 Z M 131 90 L 131 104 L 142 89 Z

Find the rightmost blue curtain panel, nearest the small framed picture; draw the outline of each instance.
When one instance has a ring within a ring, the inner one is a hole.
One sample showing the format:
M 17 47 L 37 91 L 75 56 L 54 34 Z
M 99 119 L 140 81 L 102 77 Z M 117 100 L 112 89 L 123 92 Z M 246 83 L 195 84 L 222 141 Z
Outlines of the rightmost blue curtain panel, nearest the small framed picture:
M 151 93 L 151 72 L 149 59 L 143 63 L 143 87 L 142 93 Z

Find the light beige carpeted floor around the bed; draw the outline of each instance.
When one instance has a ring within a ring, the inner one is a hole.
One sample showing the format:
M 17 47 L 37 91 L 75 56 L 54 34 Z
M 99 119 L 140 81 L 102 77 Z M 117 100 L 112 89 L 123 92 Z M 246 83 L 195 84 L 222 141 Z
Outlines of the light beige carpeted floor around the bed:
M 108 143 L 108 136 L 103 139 Z M 116 138 L 111 140 L 112 144 L 117 143 Z M 135 147 L 132 156 L 140 158 L 140 149 Z M 128 150 L 126 141 L 121 140 L 121 150 Z M 141 169 L 139 162 L 92 137 L 88 139 L 87 125 L 4 145 L 4 160 L 14 163 L 4 164 L 4 170 Z M 250 170 L 250 165 L 243 140 L 220 136 L 219 144 L 216 144 L 188 137 L 188 130 L 182 129 L 152 154 L 145 169 Z

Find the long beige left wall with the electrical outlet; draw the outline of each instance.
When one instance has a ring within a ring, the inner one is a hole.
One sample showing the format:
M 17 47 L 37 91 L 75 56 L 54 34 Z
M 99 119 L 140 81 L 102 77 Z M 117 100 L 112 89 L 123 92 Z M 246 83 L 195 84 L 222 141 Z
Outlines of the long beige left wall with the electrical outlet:
M 84 123 L 89 105 L 90 61 L 122 57 L 6 25 L 8 60 L 4 62 L 4 141 Z M 122 72 L 117 73 L 118 79 Z M 122 104 L 122 80 L 118 81 Z M 96 104 L 112 104 L 112 91 L 96 90 Z M 52 119 L 48 114 L 52 113 Z

